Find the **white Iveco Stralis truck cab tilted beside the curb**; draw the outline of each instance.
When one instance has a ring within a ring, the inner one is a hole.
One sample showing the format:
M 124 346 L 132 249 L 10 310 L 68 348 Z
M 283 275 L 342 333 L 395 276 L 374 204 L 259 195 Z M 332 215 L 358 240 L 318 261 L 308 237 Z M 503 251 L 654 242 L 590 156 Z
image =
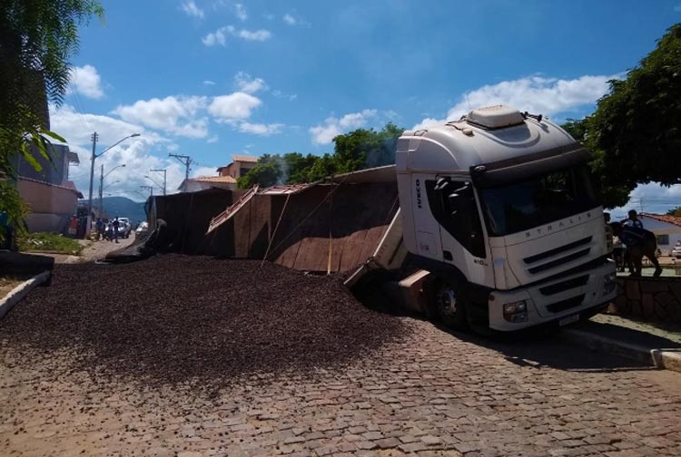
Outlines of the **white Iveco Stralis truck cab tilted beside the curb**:
M 588 159 L 558 125 L 501 105 L 402 134 L 404 245 L 436 277 L 432 303 L 445 323 L 563 325 L 615 298 Z

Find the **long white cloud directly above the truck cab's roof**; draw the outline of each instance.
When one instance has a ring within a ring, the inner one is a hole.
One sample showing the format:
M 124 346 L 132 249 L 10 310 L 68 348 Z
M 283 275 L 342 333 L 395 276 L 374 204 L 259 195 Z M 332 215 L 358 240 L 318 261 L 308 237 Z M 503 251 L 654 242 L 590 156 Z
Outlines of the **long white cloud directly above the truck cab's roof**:
M 452 106 L 445 119 L 427 118 L 414 129 L 459 119 L 471 108 L 505 104 L 545 116 L 575 112 L 580 107 L 597 102 L 608 90 L 607 82 L 618 76 L 585 75 L 573 80 L 528 76 L 514 81 L 482 86 L 466 92 Z

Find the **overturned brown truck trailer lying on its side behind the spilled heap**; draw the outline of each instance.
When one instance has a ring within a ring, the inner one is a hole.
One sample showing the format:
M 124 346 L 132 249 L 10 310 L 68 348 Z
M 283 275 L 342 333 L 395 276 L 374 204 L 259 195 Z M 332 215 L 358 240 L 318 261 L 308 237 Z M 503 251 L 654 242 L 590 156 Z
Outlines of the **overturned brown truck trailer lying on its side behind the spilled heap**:
M 398 207 L 388 166 L 311 184 L 154 197 L 149 219 L 166 222 L 172 251 L 344 272 L 372 256 Z

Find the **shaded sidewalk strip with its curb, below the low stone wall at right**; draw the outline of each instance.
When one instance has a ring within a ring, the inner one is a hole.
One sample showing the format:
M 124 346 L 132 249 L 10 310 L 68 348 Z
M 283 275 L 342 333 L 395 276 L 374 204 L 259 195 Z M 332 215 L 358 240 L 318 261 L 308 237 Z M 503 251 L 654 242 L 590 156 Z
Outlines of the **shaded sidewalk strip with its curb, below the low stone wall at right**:
M 597 315 L 562 336 L 573 344 L 681 372 L 681 326 Z

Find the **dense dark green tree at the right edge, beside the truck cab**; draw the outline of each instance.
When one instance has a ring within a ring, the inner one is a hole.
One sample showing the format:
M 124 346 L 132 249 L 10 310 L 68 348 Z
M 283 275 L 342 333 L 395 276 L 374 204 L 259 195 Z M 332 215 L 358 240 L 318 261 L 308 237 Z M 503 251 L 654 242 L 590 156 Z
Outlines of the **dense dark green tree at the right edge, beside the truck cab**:
M 604 186 L 681 183 L 673 166 L 681 151 L 681 24 L 670 27 L 626 79 L 610 82 L 584 128 Z

